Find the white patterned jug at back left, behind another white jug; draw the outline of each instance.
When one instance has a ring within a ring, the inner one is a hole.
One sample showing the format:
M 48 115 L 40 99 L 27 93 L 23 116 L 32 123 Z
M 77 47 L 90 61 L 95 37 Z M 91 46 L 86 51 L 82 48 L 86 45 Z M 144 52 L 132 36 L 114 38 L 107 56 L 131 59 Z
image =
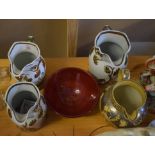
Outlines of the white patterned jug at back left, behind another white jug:
M 10 71 L 18 81 L 38 85 L 46 72 L 45 61 L 37 44 L 30 41 L 14 42 L 8 52 Z

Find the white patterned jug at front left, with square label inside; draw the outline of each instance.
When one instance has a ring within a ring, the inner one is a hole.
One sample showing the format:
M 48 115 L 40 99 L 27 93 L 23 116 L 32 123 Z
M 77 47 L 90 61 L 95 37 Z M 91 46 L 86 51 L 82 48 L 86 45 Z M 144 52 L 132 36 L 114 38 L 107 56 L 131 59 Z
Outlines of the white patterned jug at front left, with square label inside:
M 7 113 L 10 119 L 23 129 L 40 128 L 47 106 L 39 89 L 31 82 L 17 82 L 5 94 Z

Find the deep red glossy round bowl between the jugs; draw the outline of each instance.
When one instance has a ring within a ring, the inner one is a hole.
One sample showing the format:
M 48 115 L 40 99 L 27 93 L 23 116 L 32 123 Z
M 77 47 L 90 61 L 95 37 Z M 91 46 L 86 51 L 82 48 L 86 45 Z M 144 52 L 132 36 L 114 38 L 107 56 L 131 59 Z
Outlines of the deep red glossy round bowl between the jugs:
M 57 113 L 78 117 L 95 107 L 100 90 L 89 73 L 79 68 L 63 68 L 49 78 L 44 95 L 47 105 Z

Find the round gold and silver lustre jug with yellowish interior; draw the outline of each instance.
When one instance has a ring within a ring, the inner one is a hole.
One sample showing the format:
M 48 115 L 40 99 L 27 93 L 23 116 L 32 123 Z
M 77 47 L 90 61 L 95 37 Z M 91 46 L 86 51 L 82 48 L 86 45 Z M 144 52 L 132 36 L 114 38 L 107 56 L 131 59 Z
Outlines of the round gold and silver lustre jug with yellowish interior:
M 129 80 L 129 71 L 119 70 L 118 81 L 100 97 L 100 111 L 117 127 L 137 126 L 147 112 L 146 99 L 144 88 Z

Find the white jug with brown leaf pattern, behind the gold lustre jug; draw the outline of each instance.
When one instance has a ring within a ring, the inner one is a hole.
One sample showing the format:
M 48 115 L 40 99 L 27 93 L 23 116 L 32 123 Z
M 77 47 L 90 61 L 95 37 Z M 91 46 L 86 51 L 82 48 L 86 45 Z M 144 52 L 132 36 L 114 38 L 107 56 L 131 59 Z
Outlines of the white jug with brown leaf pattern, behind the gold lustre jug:
M 128 36 L 109 26 L 99 32 L 89 54 L 89 71 L 105 83 L 115 78 L 118 69 L 125 68 L 131 45 Z

